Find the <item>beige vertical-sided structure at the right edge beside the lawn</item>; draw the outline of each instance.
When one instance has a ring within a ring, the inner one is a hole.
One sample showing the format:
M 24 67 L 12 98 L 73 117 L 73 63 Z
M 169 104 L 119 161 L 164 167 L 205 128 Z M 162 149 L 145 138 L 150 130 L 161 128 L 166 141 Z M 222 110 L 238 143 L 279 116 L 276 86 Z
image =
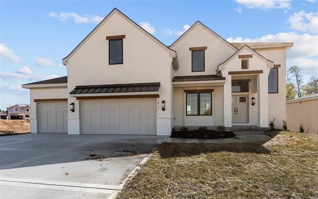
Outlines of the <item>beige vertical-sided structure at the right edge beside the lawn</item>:
M 288 130 L 298 132 L 303 123 L 306 133 L 318 134 L 318 93 L 287 101 L 286 120 Z

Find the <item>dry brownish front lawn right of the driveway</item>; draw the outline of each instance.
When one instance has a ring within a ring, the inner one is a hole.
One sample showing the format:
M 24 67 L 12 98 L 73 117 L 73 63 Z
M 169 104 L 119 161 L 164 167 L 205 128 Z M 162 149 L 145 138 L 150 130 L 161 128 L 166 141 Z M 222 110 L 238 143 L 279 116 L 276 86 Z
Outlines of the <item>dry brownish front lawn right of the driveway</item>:
M 162 143 L 117 199 L 317 199 L 318 135 L 272 137 L 266 143 Z

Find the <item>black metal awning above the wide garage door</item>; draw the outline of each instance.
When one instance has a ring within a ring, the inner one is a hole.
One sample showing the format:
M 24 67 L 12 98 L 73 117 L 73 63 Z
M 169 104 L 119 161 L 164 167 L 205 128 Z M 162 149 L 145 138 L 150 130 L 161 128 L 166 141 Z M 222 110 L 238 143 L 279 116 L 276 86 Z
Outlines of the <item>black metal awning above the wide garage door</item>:
M 133 83 L 76 86 L 70 94 L 98 94 L 159 91 L 160 83 Z

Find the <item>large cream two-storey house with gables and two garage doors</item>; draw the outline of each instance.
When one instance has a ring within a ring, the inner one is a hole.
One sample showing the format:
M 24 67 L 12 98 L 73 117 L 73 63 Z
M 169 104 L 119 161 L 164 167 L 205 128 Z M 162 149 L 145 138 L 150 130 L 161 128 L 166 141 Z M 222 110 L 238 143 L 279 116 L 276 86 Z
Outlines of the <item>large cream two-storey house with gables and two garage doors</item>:
M 31 133 L 170 135 L 274 118 L 282 127 L 292 46 L 229 43 L 198 21 L 167 47 L 115 8 L 63 59 L 67 77 L 22 85 Z

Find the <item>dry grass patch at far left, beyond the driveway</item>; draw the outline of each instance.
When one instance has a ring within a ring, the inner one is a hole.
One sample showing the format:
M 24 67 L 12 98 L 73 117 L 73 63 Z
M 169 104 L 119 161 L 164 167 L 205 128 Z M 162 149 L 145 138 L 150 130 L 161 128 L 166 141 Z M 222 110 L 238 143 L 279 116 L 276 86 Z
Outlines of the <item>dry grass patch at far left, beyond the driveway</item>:
M 30 132 L 30 121 L 0 120 L 0 135 Z

